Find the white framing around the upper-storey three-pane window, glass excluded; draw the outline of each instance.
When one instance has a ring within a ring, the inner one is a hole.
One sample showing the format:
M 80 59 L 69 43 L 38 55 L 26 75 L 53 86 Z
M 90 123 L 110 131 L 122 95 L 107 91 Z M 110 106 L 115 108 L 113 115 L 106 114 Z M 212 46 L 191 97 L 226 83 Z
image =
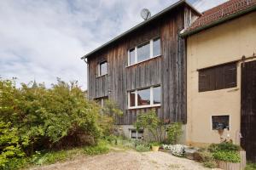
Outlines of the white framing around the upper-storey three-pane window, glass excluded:
M 154 46 L 153 46 L 153 43 L 154 43 L 154 41 L 157 40 L 157 39 L 160 40 L 160 54 L 154 55 L 154 51 L 153 51 Z M 149 51 L 149 58 L 148 58 L 148 59 L 143 59 L 143 60 L 137 62 L 137 48 L 143 46 L 143 44 L 147 44 L 148 42 L 149 42 L 149 50 L 150 50 L 150 51 Z M 134 59 L 134 60 L 135 60 L 134 64 L 130 64 L 130 51 L 131 51 L 132 49 L 134 49 L 134 57 L 135 57 L 135 59 Z M 159 56 L 161 56 L 161 55 L 162 55 L 161 39 L 160 39 L 160 37 L 154 37 L 154 38 L 150 39 L 149 41 L 140 43 L 140 44 L 138 44 L 136 47 L 133 47 L 133 48 L 130 48 L 130 49 L 127 50 L 127 58 L 128 58 L 128 59 L 127 59 L 127 61 L 128 61 L 128 62 L 127 62 L 127 67 L 129 67 L 129 66 L 131 66 L 131 65 L 137 65 L 137 64 L 139 64 L 139 63 L 142 63 L 142 62 L 147 61 L 147 60 L 149 60 L 149 59 L 154 59 L 154 58 L 159 57 Z

